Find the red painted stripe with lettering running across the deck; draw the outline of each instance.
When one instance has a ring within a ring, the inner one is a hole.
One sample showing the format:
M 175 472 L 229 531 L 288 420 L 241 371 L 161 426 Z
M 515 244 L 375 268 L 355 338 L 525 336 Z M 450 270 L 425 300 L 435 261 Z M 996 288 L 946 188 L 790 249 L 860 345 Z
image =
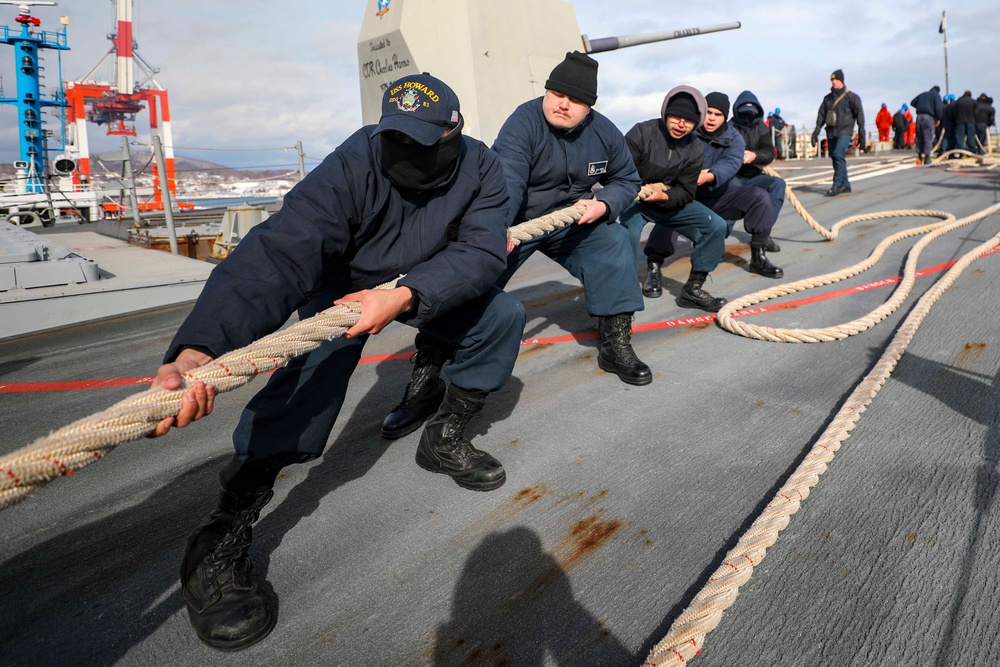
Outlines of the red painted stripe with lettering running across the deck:
M 987 255 L 992 255 L 994 253 L 1000 252 L 1000 246 L 990 250 L 986 253 Z M 957 259 L 950 262 L 945 262 L 944 264 L 938 264 L 936 266 L 929 266 L 925 269 L 919 269 L 916 272 L 917 278 L 923 278 L 924 276 L 931 275 L 932 273 L 941 273 L 947 271 L 952 266 L 958 262 Z M 808 305 L 811 303 L 819 303 L 820 301 L 828 301 L 830 299 L 839 299 L 841 297 L 849 296 L 851 294 L 856 294 L 858 292 L 867 292 L 873 289 L 881 289 L 883 287 L 888 287 L 890 285 L 895 285 L 899 283 L 901 278 L 899 276 L 894 276 L 892 278 L 883 278 L 882 280 L 875 280 L 870 283 L 865 283 L 864 285 L 855 285 L 854 287 L 845 287 L 844 289 L 836 290 L 833 292 L 827 292 L 825 294 L 819 294 L 817 296 L 806 297 L 804 299 L 796 299 L 794 301 L 785 301 L 778 304 L 758 306 L 756 308 L 747 308 L 736 313 L 735 317 L 746 317 L 748 315 L 758 315 L 761 313 L 771 313 L 778 310 L 784 310 L 786 308 L 798 308 L 800 306 Z M 714 314 L 706 315 L 695 315 L 692 317 L 682 317 L 676 320 L 665 320 L 663 322 L 648 322 L 646 324 L 638 324 L 632 328 L 634 332 L 641 333 L 643 331 L 657 331 L 659 329 L 674 329 L 677 327 L 690 327 L 699 324 L 710 324 L 715 321 Z M 596 331 L 583 331 L 579 333 L 563 334 L 560 336 L 546 336 L 545 338 L 529 338 L 521 341 L 522 346 L 530 345 L 552 345 L 555 343 L 569 343 L 572 341 L 590 340 L 597 338 Z M 367 357 L 361 358 L 362 364 L 378 364 L 383 361 L 396 361 L 400 359 L 409 359 L 413 356 L 413 352 L 393 352 L 391 354 L 374 354 Z M 21 393 L 41 393 L 47 391 L 77 391 L 81 389 L 104 389 L 107 387 L 126 387 L 135 385 L 148 385 L 153 381 L 153 377 L 139 377 L 139 378 L 111 378 L 106 380 L 72 380 L 66 382 L 10 382 L 10 383 L 0 383 L 0 394 L 21 394 Z

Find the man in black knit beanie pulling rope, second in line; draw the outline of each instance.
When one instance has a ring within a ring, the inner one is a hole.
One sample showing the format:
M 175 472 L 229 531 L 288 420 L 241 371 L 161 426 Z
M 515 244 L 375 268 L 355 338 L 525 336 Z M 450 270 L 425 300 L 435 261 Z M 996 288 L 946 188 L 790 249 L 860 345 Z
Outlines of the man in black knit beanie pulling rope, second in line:
M 513 224 L 574 205 L 585 212 L 576 224 L 513 248 L 497 284 L 506 285 L 535 251 L 566 267 L 583 283 L 587 312 L 598 319 L 600 367 L 629 384 L 649 384 L 652 374 L 630 339 L 632 316 L 643 308 L 635 252 L 616 222 L 639 192 L 639 174 L 621 131 L 591 108 L 597 61 L 567 53 L 545 88 L 543 97 L 514 110 L 493 144 L 507 178 Z

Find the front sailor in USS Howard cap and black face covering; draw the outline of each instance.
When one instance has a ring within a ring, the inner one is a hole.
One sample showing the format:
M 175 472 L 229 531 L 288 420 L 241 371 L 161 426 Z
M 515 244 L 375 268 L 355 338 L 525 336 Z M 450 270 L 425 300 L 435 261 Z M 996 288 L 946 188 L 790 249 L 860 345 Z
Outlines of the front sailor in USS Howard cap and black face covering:
M 276 622 L 273 597 L 250 567 L 250 526 L 282 467 L 322 454 L 370 334 L 393 320 L 445 340 L 450 386 L 417 449 L 422 468 L 465 488 L 504 483 L 503 466 L 465 438 L 486 395 L 510 377 L 525 313 L 496 287 L 507 266 L 508 195 L 497 156 L 461 134 L 458 98 L 428 74 L 387 89 L 378 126 L 361 128 L 285 196 L 213 271 L 181 325 L 156 384 L 276 330 L 298 310 L 361 303 L 342 338 L 279 369 L 250 401 L 220 474 L 219 506 L 191 537 L 181 587 L 191 624 L 207 644 L 236 650 Z M 398 287 L 375 286 L 406 274 Z M 211 412 L 201 383 L 157 427 Z

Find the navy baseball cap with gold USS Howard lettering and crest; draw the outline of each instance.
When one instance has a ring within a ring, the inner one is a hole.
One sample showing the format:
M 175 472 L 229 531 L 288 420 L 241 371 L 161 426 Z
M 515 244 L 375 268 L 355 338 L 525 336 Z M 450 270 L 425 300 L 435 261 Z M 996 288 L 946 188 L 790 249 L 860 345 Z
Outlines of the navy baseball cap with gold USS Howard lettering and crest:
M 382 95 L 382 118 L 372 135 L 395 130 L 431 146 L 444 130 L 458 125 L 459 118 L 458 95 L 448 84 L 427 72 L 411 74 L 389 84 Z

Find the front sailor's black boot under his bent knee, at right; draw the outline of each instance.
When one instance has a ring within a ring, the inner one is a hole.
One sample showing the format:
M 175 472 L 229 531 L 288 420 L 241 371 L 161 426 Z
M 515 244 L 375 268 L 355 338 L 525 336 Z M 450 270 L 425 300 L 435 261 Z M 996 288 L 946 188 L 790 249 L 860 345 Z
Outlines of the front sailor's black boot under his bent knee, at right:
M 507 473 L 495 458 L 465 439 L 465 426 L 486 404 L 486 394 L 452 385 L 437 414 L 427 423 L 417 447 L 417 465 L 451 475 L 459 486 L 492 491 L 503 486 Z

